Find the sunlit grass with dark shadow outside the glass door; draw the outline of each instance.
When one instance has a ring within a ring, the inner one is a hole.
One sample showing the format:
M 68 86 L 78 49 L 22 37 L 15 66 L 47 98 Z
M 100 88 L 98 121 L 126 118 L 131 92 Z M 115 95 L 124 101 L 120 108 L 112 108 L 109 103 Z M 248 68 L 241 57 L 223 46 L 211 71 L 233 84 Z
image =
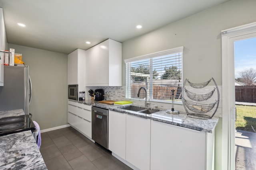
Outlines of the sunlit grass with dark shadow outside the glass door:
M 256 106 L 236 105 L 236 129 L 256 132 Z

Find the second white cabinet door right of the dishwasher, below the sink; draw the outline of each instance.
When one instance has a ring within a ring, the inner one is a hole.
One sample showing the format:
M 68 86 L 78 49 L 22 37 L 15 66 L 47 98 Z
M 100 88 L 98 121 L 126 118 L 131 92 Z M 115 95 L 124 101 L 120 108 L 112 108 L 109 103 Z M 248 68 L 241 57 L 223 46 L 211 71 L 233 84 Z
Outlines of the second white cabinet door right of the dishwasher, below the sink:
M 150 169 L 150 119 L 126 115 L 126 161 Z

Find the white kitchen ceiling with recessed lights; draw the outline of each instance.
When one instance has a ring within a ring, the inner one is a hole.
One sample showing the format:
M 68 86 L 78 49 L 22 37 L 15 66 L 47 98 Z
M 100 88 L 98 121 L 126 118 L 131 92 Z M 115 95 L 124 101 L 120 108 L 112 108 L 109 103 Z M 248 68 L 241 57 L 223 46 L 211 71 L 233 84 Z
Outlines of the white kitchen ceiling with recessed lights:
M 108 38 L 122 43 L 227 1 L 0 0 L 0 7 L 8 43 L 69 54 Z

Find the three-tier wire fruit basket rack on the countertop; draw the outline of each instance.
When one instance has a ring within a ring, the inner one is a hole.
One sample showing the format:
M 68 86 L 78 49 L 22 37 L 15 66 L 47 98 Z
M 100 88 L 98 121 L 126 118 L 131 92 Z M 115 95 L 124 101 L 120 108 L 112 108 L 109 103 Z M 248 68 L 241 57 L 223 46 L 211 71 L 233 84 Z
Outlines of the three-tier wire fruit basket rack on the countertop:
M 204 89 L 208 84 L 213 81 L 214 82 L 214 88 L 211 92 L 208 93 L 194 93 L 191 92 L 194 89 Z M 192 88 L 191 90 L 186 89 L 186 83 L 188 82 L 189 87 Z M 212 96 L 214 95 L 214 92 L 217 91 L 217 95 L 215 95 L 216 99 L 212 99 Z M 184 94 L 186 94 L 186 97 L 188 97 L 189 100 L 185 99 Z M 182 86 L 182 103 L 186 110 L 186 113 L 189 117 L 198 118 L 198 119 L 211 119 L 214 114 L 216 113 L 218 106 L 220 102 L 220 92 L 218 90 L 218 86 L 214 80 L 214 78 L 211 78 L 207 82 L 203 83 L 192 83 L 188 79 L 184 81 L 184 84 Z M 212 111 L 212 109 L 215 107 L 215 110 Z

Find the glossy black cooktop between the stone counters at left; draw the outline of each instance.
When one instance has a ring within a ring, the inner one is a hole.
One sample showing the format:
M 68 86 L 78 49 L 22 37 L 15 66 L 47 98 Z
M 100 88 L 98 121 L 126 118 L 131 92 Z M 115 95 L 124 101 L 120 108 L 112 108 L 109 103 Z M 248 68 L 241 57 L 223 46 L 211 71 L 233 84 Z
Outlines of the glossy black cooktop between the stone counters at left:
M 36 130 L 33 121 L 28 115 L 3 117 L 0 119 L 0 136 L 28 130 Z

